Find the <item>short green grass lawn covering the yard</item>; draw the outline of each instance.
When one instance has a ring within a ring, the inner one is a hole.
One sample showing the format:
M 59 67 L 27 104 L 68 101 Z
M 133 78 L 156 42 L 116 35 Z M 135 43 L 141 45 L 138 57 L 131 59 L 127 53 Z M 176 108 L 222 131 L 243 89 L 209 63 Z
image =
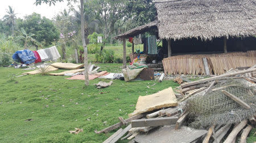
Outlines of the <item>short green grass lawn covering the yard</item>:
M 120 72 L 122 66 L 97 65 L 109 72 Z M 85 87 L 84 81 L 48 75 L 27 75 L 10 81 L 9 75 L 22 72 L 0 68 L 0 142 L 102 142 L 116 130 L 100 135 L 94 130 L 119 122 L 118 116 L 127 118 L 135 110 L 139 96 L 177 86 L 172 81 L 114 80 L 112 86 L 97 89 L 94 84 L 100 79 L 91 80 Z M 150 86 L 153 84 L 156 85 Z M 78 135 L 68 132 L 75 128 L 84 132 Z

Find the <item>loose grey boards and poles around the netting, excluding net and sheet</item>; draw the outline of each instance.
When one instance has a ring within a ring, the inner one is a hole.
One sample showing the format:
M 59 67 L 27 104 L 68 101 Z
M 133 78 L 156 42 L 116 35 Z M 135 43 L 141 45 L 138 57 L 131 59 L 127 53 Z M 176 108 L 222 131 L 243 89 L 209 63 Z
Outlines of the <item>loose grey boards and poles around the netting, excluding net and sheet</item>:
M 139 112 L 139 114 L 131 116 L 128 119 L 119 117 L 119 123 L 114 124 L 96 133 L 108 133 L 114 129 L 118 129 L 112 136 L 104 142 L 117 142 L 118 140 L 130 140 L 130 142 L 234 142 L 238 133 L 242 132 L 240 142 L 246 142 L 246 137 L 250 130 L 254 127 L 255 116 L 251 115 L 250 119 L 241 120 L 237 124 L 213 124 L 207 130 L 195 129 L 187 127 L 189 112 L 185 107 L 188 98 L 196 94 L 207 94 L 215 89 L 214 84 L 219 80 L 246 78 L 245 75 L 251 75 L 256 71 L 256 65 L 243 71 L 228 71 L 227 73 L 209 77 L 198 81 L 183 83 L 180 85 L 180 92 L 183 94 L 179 101 L 179 105 L 175 107 L 165 107 L 165 109 L 157 109 L 149 112 Z M 238 103 L 245 109 L 249 109 L 242 99 L 236 95 L 222 90 L 222 92 Z M 188 93 L 188 94 L 185 94 Z M 137 103 L 138 104 L 138 103 Z M 121 128 L 126 126 L 125 128 Z M 184 136 L 185 135 L 185 136 Z

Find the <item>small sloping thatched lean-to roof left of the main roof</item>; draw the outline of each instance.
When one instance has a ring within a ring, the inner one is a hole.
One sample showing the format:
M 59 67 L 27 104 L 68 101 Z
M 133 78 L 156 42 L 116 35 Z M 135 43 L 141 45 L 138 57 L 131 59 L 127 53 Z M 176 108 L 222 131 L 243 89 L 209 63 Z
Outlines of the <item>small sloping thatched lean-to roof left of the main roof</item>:
M 134 37 L 137 36 L 138 34 L 144 33 L 150 29 L 157 29 L 156 27 L 157 21 L 152 21 L 148 24 L 142 25 L 140 27 L 136 27 L 134 29 L 131 29 L 130 31 L 127 31 L 125 33 L 119 34 L 118 36 L 115 36 L 115 39 L 120 39 L 120 38 L 129 38 L 129 37 Z

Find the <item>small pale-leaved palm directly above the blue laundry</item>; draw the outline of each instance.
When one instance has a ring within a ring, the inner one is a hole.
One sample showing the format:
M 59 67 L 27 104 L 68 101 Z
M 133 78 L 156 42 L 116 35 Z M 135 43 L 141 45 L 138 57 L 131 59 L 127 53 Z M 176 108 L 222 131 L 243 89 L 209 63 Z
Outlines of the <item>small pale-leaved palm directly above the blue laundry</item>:
M 28 33 L 27 34 L 27 32 L 23 28 L 20 28 L 20 31 L 22 32 L 23 35 L 18 36 L 17 39 L 24 41 L 25 49 L 27 49 L 28 42 L 33 42 L 37 46 L 42 46 L 40 44 L 40 42 L 38 42 L 37 40 L 32 38 L 32 36 L 35 36 L 35 34 L 33 34 L 33 33 Z

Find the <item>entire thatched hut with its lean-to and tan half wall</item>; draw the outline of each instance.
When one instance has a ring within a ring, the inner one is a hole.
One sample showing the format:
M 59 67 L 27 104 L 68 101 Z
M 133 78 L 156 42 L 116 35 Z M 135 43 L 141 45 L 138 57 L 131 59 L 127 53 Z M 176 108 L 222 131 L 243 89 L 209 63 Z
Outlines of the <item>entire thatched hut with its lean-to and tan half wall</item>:
M 126 57 L 127 38 L 154 34 L 162 40 L 164 59 L 158 64 L 165 73 L 220 75 L 256 64 L 255 5 L 253 0 L 156 0 L 155 21 L 115 38 L 123 40 Z

